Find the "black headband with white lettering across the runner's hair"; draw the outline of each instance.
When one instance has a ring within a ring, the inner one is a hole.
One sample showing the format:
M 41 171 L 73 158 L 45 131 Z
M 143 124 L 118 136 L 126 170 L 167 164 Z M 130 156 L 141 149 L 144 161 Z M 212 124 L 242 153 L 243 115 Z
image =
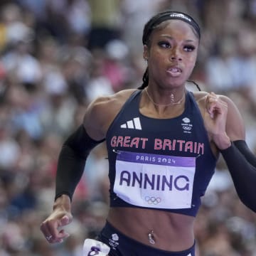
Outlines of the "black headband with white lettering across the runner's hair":
M 198 34 L 198 38 L 201 38 L 200 27 L 191 16 L 188 14 L 183 14 L 180 11 L 164 11 L 163 13 L 157 14 L 151 18 L 148 23 L 146 23 L 144 27 L 144 36 L 142 37 L 142 43 L 147 43 L 151 32 L 154 30 L 154 28 L 156 28 L 157 25 L 170 19 L 178 19 L 188 23 L 195 29 L 196 33 Z

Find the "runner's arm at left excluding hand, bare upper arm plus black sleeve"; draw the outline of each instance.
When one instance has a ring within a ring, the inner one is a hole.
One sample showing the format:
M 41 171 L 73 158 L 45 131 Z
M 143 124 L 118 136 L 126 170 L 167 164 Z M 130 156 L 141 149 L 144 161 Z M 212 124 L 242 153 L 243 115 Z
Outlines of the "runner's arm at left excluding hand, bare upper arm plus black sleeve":
M 108 113 L 111 112 L 110 102 L 111 97 L 100 97 L 92 102 L 87 107 L 83 124 L 65 140 L 58 159 L 55 199 L 66 194 L 72 201 L 87 156 L 97 144 L 105 140 L 105 127 L 108 126 Z

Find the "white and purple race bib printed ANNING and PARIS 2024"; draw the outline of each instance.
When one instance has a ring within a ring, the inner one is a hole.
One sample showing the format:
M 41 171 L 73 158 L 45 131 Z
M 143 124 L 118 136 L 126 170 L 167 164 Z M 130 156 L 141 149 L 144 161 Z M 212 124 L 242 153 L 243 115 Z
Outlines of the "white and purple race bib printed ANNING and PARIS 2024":
M 191 208 L 196 158 L 118 151 L 114 193 L 134 206 Z

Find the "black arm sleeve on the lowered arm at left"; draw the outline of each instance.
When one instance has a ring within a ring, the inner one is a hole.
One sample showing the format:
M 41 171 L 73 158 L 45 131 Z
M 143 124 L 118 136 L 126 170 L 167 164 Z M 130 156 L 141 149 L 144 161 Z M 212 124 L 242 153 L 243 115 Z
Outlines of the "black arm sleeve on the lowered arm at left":
M 90 138 L 83 125 L 80 125 L 68 137 L 63 144 L 58 159 L 55 200 L 63 194 L 68 195 L 72 200 L 75 188 L 82 177 L 88 154 L 104 140 L 95 141 Z

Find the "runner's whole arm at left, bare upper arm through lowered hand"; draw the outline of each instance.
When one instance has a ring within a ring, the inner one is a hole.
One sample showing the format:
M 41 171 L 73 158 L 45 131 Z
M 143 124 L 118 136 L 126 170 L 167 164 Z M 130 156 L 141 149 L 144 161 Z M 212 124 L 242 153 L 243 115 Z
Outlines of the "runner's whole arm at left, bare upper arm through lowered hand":
M 41 231 L 50 243 L 62 242 L 63 238 L 68 237 L 68 233 L 65 233 L 62 227 L 72 221 L 71 201 L 82 177 L 87 156 L 97 144 L 105 139 L 102 127 L 107 120 L 107 115 L 102 115 L 102 112 L 107 109 L 107 106 L 106 98 L 92 102 L 87 107 L 83 124 L 65 140 L 60 150 L 55 178 L 53 212 L 41 223 Z M 87 123 L 90 123 L 88 125 L 90 135 L 85 127 Z M 99 137 L 100 139 L 97 139 Z

